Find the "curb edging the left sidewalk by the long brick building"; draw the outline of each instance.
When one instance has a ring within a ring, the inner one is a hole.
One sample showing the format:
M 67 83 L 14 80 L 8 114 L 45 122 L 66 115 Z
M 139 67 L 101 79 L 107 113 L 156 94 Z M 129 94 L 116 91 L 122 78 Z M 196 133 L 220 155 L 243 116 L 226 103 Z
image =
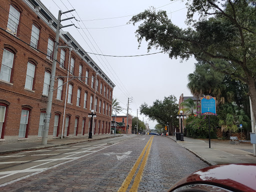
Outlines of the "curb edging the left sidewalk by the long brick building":
M 92 139 L 85 139 L 82 141 L 76 141 L 76 142 L 68 142 L 68 143 L 62 143 L 62 144 L 52 144 L 48 146 L 35 146 L 35 147 L 29 147 L 29 148 L 19 148 L 19 149 L 13 149 L 13 150 L 5 150 L 5 151 L 0 151 L 0 154 L 8 154 L 8 153 L 13 153 L 13 152 L 21 152 L 21 151 L 32 151 L 32 150 L 39 150 L 39 149 L 45 149 L 45 148 L 51 148 L 51 147 L 57 147 L 57 146 L 63 146 L 63 145 L 68 145 L 68 144 L 75 144 L 79 142 L 86 142 L 86 141 L 91 141 L 91 140 L 101 140 L 105 138 L 113 138 L 117 136 L 123 136 L 123 135 L 115 135 L 115 136 L 108 136 L 108 137 L 101 137 L 101 138 L 92 138 Z

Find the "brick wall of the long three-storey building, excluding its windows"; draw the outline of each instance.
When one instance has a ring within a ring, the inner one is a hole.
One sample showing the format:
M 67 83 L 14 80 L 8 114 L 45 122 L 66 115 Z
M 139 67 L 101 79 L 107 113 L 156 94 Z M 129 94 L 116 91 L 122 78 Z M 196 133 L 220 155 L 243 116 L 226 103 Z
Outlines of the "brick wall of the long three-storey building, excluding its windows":
M 3 52 L 7 51 L 14 54 L 9 81 L 6 79 L 3 80 L 3 77 L 0 77 L 0 109 L 2 109 L 2 111 L 5 111 L 5 115 L 0 114 L 1 116 L 4 116 L 4 119 L 0 119 L 0 144 L 10 142 L 22 142 L 27 140 L 37 140 L 41 138 L 41 136 L 38 136 L 40 113 L 45 112 L 47 103 L 47 95 L 43 94 L 44 74 L 45 71 L 51 71 L 52 65 L 52 60 L 48 59 L 46 56 L 48 38 L 55 38 L 54 22 L 56 23 L 56 19 L 42 4 L 39 3 L 41 2 L 36 2 L 36 0 L 2 0 L 0 4 L 0 60 L 2 61 L 0 64 L 0 75 L 7 71 L 6 67 L 3 64 Z M 20 13 L 19 23 L 15 34 L 10 34 L 7 29 L 9 24 L 8 19 L 10 6 L 14 7 Z M 43 15 L 42 13 L 45 12 L 46 15 Z M 52 20 L 49 19 L 49 17 L 51 17 Z M 36 48 L 29 46 L 32 25 L 39 28 L 39 37 Z M 109 107 L 111 107 L 111 97 L 114 84 L 95 64 L 95 62 L 82 51 L 83 49 L 79 47 L 77 42 L 72 38 L 69 33 L 66 33 L 62 30 L 60 31 L 60 33 L 61 34 L 59 38 L 59 46 L 68 45 L 76 48 L 76 50 L 72 49 L 70 55 L 71 58 L 74 59 L 74 76 L 79 76 L 79 65 L 81 65 L 81 76 L 85 76 L 85 71 L 87 70 L 89 78 L 87 84 L 85 83 L 84 77 L 81 78 L 81 80 L 78 78 L 74 78 L 68 82 L 68 85 L 72 85 L 72 96 L 71 103 L 66 103 L 66 109 L 64 114 L 63 112 L 66 84 L 62 86 L 62 93 L 60 99 L 57 99 L 57 84 L 58 79 L 62 79 L 63 83 L 66 82 L 66 77 L 63 76 L 67 76 L 69 48 L 63 49 L 65 51 L 65 61 L 63 67 L 60 67 L 59 64 L 61 50 L 58 49 L 55 74 L 56 77 L 54 83 L 48 138 L 53 137 L 52 135 L 55 115 L 59 115 L 57 134 L 55 137 L 59 138 L 61 136 L 63 114 L 65 115 L 65 118 L 66 116 L 69 116 L 69 127 L 67 131 L 67 136 L 70 137 L 75 135 L 81 135 L 82 132 L 84 136 L 88 135 L 88 126 L 90 121 L 88 118 L 88 113 L 90 112 L 90 96 L 92 95 L 93 97 L 93 109 L 94 91 L 96 86 L 96 79 L 94 79 L 93 88 L 91 87 L 91 76 L 93 75 L 95 77 L 96 72 L 96 78 L 98 80 L 98 89 L 97 91 L 95 91 L 95 98 L 97 99 L 97 115 L 94 119 L 95 129 L 93 129 L 93 134 L 108 134 L 110 133 L 111 122 L 111 114 L 109 112 L 111 111 L 111 108 L 109 109 Z M 77 51 L 77 49 L 80 50 L 80 52 Z M 31 89 L 25 88 L 28 62 L 35 66 Z M 70 79 L 71 78 L 69 77 L 69 80 Z M 102 83 L 102 87 L 105 86 L 106 90 L 108 90 L 108 97 L 107 95 L 104 96 L 103 90 L 102 93 L 100 93 L 100 83 Z M 76 105 L 77 89 L 80 90 L 80 102 L 78 106 Z M 83 107 L 84 92 L 87 93 L 87 103 L 85 108 Z M 101 102 L 101 111 L 99 111 L 99 101 Z M 104 111 L 104 113 L 102 111 L 103 103 L 105 103 L 105 110 L 106 105 L 108 106 L 107 113 L 106 111 Z M 22 109 L 29 111 L 29 118 L 26 125 L 25 136 L 20 137 L 19 131 Z M 74 130 L 75 118 L 77 118 L 76 131 Z M 84 129 L 82 131 L 83 119 L 85 120 L 85 123 Z M 98 127 L 100 128 L 100 131 L 98 131 Z M 65 120 L 63 129 L 64 128 Z

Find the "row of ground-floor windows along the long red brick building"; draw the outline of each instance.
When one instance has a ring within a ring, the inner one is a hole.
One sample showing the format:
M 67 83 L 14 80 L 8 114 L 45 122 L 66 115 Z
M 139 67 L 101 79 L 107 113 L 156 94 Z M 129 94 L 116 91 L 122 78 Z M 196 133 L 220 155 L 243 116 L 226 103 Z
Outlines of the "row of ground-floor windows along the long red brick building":
M 4 127 L 5 127 L 5 122 L 6 122 L 7 108 L 8 108 L 8 105 L 0 103 L 0 138 L 3 138 L 3 135 L 4 135 Z M 30 119 L 30 111 L 31 110 L 29 108 L 25 108 L 25 107 L 22 108 L 22 110 L 21 110 L 19 131 L 18 131 L 19 138 L 26 138 L 28 135 L 28 124 L 29 124 L 29 119 Z M 53 125 L 52 136 L 58 136 L 59 116 L 60 116 L 60 114 L 54 115 L 54 125 Z M 38 137 L 42 137 L 43 126 L 44 126 L 44 117 L 45 117 L 45 111 L 40 112 L 39 126 L 38 126 Z M 68 136 L 69 124 L 70 124 L 69 119 L 70 119 L 70 116 L 65 117 L 64 130 L 63 130 L 64 136 Z M 75 117 L 74 135 L 77 135 L 78 121 L 79 121 L 79 117 Z M 95 123 L 93 126 L 94 134 L 95 134 L 95 124 L 96 124 L 96 120 L 95 120 Z M 99 124 L 100 124 L 100 120 L 98 121 L 98 128 L 99 128 Z M 103 129 L 103 124 L 104 124 L 104 121 L 102 121 L 102 129 Z M 106 122 L 106 126 L 107 126 L 107 122 Z M 109 123 L 109 126 L 110 126 L 110 123 Z M 85 118 L 82 119 L 81 135 L 84 135 L 84 127 L 85 127 Z M 88 124 L 88 130 L 89 130 L 89 127 L 90 127 L 90 121 Z M 100 133 L 100 132 L 98 131 L 98 133 Z

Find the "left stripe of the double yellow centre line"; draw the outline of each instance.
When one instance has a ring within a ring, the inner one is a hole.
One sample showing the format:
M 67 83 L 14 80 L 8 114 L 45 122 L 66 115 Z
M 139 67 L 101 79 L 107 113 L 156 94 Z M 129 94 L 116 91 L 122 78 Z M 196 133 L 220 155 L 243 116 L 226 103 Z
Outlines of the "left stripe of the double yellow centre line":
M 122 182 L 122 185 L 120 186 L 120 188 L 118 189 L 118 192 L 125 192 L 126 189 L 128 188 L 129 184 L 130 184 L 130 181 L 133 177 L 133 175 L 135 174 L 135 171 L 141 161 L 141 158 L 143 157 L 145 151 L 146 151 L 146 148 L 147 146 L 149 145 L 150 141 L 153 140 L 153 136 L 151 136 L 149 138 L 149 140 L 147 141 L 146 145 L 144 146 L 142 152 L 140 153 L 138 159 L 136 160 L 135 164 L 133 165 L 133 167 L 131 168 L 129 174 L 126 176 L 126 178 L 124 179 L 124 181 Z

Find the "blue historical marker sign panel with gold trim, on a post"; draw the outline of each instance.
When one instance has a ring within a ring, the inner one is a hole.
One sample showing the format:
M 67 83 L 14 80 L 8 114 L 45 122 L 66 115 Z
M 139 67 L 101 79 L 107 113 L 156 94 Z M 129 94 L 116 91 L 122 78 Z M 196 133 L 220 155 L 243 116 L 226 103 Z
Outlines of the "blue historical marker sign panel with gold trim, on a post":
M 201 97 L 201 114 L 216 114 L 216 98 L 212 96 Z

